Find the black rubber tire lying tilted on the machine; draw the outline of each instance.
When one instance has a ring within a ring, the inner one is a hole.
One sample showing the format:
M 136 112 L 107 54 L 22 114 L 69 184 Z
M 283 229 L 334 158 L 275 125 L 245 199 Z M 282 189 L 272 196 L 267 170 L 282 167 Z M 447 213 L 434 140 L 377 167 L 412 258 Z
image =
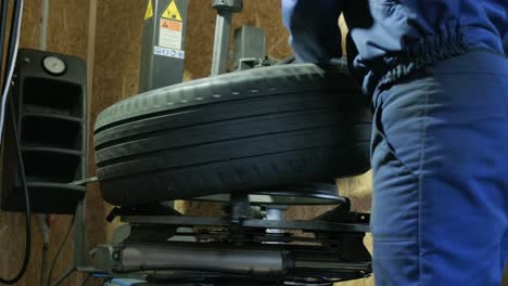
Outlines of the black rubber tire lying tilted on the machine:
M 331 182 L 369 169 L 370 125 L 345 66 L 280 65 L 106 108 L 96 162 L 104 199 L 122 206 Z

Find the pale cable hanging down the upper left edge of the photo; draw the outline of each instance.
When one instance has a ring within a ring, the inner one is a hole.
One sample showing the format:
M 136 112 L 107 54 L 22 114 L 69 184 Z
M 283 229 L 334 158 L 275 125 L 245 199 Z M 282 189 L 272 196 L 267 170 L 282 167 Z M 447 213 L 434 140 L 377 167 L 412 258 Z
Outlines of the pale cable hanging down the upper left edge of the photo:
M 2 2 L 5 2 L 2 0 Z M 12 76 L 14 74 L 14 67 L 17 60 L 17 50 L 20 49 L 20 37 L 21 37 L 21 24 L 23 17 L 23 0 L 14 1 L 14 8 L 12 10 L 12 24 L 9 38 L 8 56 L 5 65 L 5 74 L 3 75 L 2 82 L 2 99 L 0 103 L 0 145 L 2 143 L 3 127 L 5 125 L 5 107 L 8 102 L 9 89 L 11 86 Z M 2 43 L 3 46 L 3 43 Z M 1 281 L 0 281 L 1 282 Z

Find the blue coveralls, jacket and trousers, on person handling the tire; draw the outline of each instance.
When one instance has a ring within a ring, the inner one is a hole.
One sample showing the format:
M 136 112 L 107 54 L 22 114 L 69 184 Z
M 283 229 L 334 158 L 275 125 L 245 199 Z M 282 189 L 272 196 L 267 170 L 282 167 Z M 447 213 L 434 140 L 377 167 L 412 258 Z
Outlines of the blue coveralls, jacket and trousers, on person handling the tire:
M 356 46 L 354 74 L 374 107 L 377 285 L 499 285 L 508 0 L 282 0 L 282 9 L 300 62 L 341 56 L 341 12 Z

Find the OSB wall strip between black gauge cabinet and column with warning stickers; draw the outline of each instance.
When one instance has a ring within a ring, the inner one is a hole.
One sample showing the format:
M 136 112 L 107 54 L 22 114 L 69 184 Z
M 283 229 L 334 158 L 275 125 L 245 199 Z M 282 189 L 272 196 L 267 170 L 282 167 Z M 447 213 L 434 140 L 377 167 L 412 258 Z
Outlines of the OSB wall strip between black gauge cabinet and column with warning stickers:
M 98 1 L 93 90 L 90 108 L 90 130 L 96 118 L 107 106 L 138 91 L 141 32 L 144 0 Z M 89 172 L 96 173 L 92 135 L 90 140 Z M 99 185 L 92 185 L 88 199 L 88 244 L 104 243 L 115 224 L 106 224 L 104 218 L 111 206 L 103 203 Z

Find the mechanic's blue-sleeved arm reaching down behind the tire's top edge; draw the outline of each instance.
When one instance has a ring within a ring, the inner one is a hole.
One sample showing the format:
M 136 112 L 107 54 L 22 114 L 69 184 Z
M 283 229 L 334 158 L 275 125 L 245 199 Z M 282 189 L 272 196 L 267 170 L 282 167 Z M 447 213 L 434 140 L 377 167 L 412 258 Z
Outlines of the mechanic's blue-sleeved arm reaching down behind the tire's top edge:
M 296 61 L 329 63 L 342 56 L 338 22 L 344 0 L 282 0 L 282 18 Z

